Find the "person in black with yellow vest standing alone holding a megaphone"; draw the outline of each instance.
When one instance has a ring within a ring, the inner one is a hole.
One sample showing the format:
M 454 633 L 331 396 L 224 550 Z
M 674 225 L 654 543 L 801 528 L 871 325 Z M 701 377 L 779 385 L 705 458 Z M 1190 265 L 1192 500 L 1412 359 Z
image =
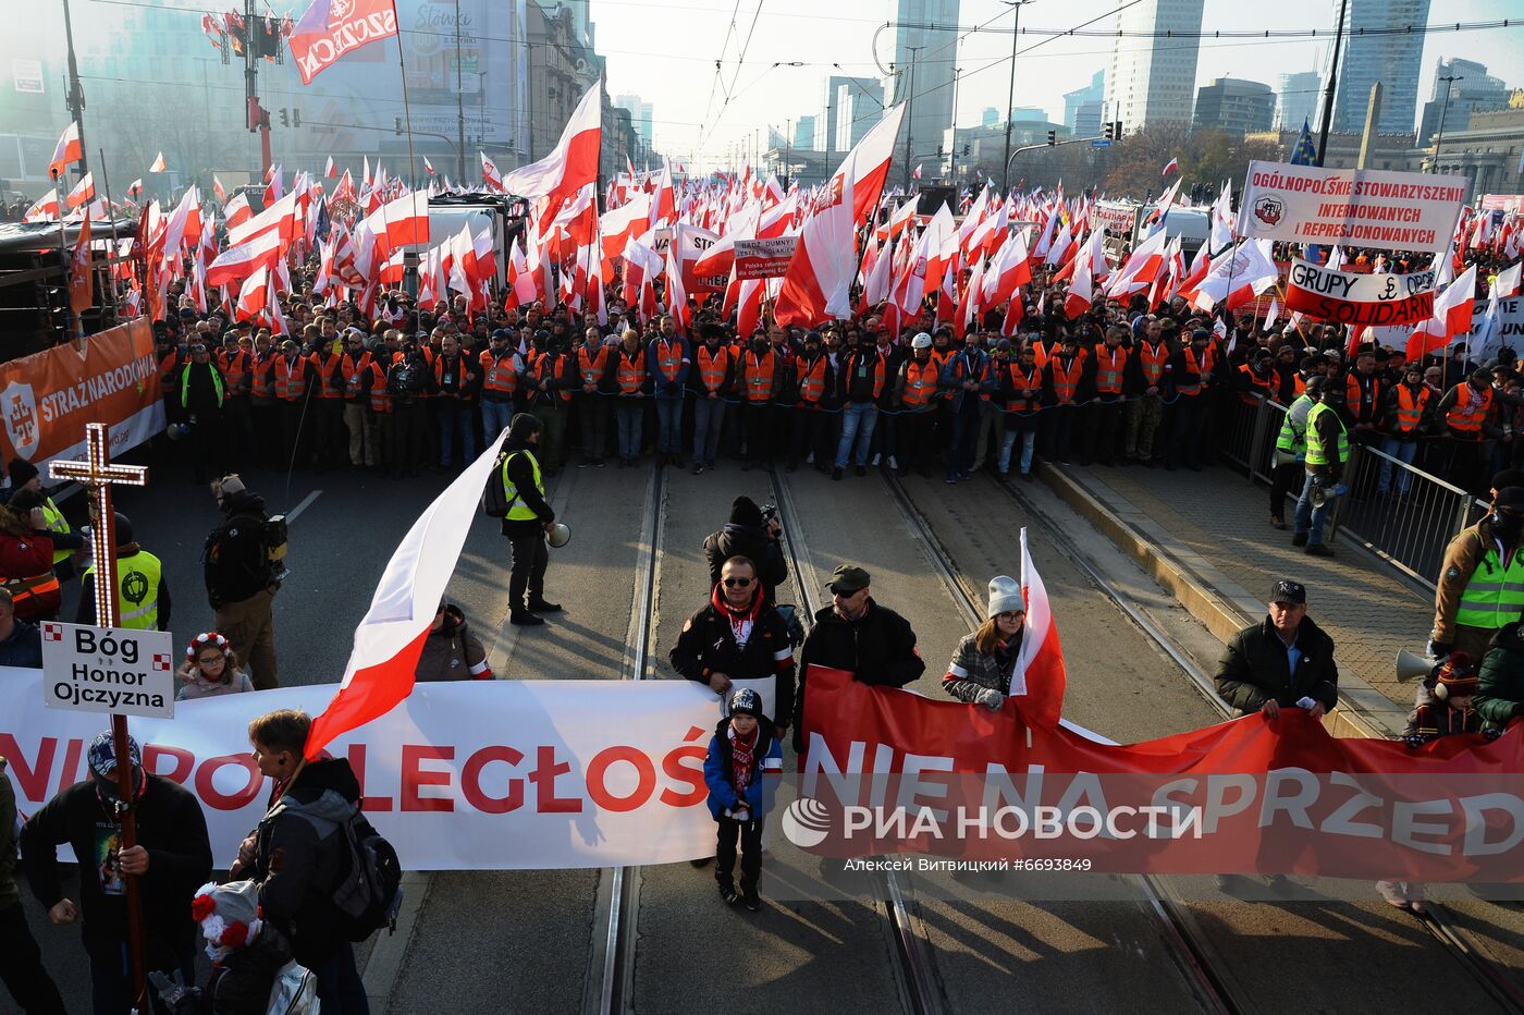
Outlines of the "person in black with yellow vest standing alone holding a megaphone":
M 507 427 L 503 443 L 503 494 L 507 514 L 503 535 L 514 552 L 514 570 L 507 579 L 509 623 L 533 626 L 544 623 L 543 613 L 561 613 L 561 604 L 546 600 L 546 567 L 550 553 L 546 535 L 555 524 L 556 512 L 546 503 L 546 482 L 535 450 L 544 424 L 529 413 L 518 413 Z M 524 593 L 529 602 L 524 602 Z

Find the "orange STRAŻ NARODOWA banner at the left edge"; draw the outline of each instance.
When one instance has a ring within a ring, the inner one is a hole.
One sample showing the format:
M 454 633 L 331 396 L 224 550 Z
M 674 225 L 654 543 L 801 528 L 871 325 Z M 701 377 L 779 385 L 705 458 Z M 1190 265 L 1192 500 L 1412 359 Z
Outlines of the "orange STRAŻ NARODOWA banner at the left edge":
M 85 424 L 111 427 L 111 453 L 137 447 L 165 428 L 165 404 L 146 317 L 20 360 L 0 363 L 3 460 L 38 469 L 84 454 Z

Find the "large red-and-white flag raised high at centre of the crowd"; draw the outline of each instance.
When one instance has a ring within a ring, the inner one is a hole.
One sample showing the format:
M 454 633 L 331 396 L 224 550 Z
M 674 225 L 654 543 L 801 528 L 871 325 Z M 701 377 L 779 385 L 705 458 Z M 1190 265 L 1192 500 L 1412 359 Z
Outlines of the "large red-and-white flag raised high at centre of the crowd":
M 783 274 L 773 308 L 779 325 L 814 326 L 852 315 L 849 288 L 856 273 L 856 224 L 878 207 L 904 113 L 904 105 L 885 113 L 826 183 L 828 203 L 805 223 Z

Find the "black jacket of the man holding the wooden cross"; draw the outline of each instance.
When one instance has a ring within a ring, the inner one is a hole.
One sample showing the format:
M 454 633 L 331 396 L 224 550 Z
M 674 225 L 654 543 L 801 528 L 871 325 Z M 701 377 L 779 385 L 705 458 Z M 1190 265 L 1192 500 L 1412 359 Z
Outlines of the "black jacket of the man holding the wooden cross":
M 195 936 L 190 898 L 212 876 L 212 843 L 195 794 L 168 779 L 146 776 L 136 814 L 137 844 L 148 850 L 148 873 L 139 882 L 152 956 L 155 949 L 183 946 Z M 126 940 L 126 896 L 102 890 L 102 864 L 94 860 L 116 835 L 116 817 L 107 811 L 94 779 L 69 786 L 21 828 L 21 869 L 44 910 L 64 898 L 56 847 L 69 843 L 75 857 L 84 860 L 79 904 L 87 943 Z

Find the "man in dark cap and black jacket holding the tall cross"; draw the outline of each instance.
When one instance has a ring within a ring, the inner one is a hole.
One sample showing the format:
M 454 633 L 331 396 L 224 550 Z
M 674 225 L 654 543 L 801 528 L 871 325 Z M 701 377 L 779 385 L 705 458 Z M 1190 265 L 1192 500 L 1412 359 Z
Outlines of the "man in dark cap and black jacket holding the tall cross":
M 126 1015 L 134 998 L 126 975 L 126 878 L 137 878 L 143 901 L 143 959 L 149 971 L 195 977 L 197 925 L 190 899 L 212 875 L 212 843 L 195 794 L 143 771 L 137 742 L 128 738 L 137 843 L 122 847 L 122 799 L 111 733 L 88 751 L 90 777 L 61 791 L 21 828 L 21 869 L 32 895 L 53 924 L 84 916 L 81 936 L 90 956 L 96 1015 Z M 64 898 L 56 849 L 69 843 L 79 866 L 79 905 Z M 149 1010 L 148 1000 L 137 1000 Z

